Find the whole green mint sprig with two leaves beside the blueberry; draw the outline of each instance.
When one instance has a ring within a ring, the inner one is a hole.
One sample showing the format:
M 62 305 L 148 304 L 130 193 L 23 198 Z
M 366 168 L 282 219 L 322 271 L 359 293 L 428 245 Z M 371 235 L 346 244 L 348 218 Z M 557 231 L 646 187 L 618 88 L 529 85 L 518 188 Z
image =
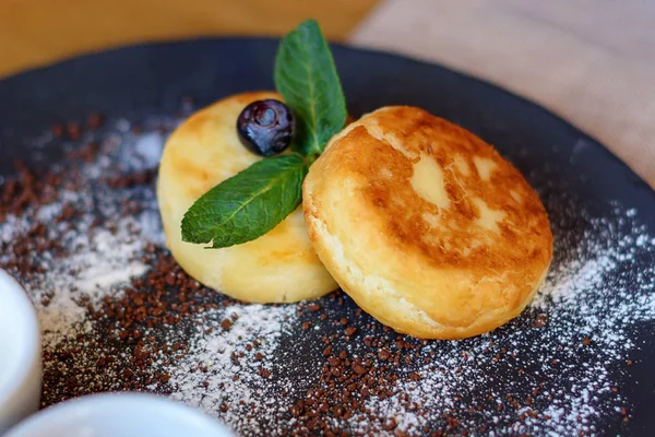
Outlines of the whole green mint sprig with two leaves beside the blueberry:
M 182 218 L 183 241 L 211 243 L 216 249 L 251 241 L 273 229 L 298 208 L 309 166 L 344 128 L 344 94 L 314 20 L 282 39 L 274 78 L 296 118 L 295 153 L 259 161 L 203 194 Z

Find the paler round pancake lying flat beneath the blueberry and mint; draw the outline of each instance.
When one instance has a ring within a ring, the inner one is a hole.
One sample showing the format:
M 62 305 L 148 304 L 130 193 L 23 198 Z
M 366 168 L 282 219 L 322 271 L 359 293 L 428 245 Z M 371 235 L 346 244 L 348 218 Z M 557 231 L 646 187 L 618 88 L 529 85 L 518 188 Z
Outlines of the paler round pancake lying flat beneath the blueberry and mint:
M 180 224 L 189 206 L 262 158 L 240 143 L 236 123 L 248 104 L 263 98 L 282 99 L 271 92 L 234 95 L 194 114 L 170 135 L 157 182 L 166 244 L 187 273 L 231 297 L 257 303 L 314 298 L 337 285 L 307 238 L 300 208 L 243 245 L 206 249 L 181 240 Z

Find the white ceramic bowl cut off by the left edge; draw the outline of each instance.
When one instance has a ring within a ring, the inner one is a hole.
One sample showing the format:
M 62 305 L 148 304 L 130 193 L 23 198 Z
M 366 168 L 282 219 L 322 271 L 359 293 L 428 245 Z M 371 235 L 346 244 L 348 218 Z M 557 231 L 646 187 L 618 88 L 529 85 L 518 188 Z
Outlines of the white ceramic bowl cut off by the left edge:
M 21 285 L 0 270 L 0 435 L 38 409 L 40 329 Z

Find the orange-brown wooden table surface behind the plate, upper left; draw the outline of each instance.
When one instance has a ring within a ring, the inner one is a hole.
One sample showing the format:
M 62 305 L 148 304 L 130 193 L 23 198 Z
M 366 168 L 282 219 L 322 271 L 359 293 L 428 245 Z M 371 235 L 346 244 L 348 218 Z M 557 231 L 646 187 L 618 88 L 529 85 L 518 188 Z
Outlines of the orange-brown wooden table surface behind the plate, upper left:
M 282 35 L 307 17 L 343 40 L 379 0 L 0 0 L 0 78 L 138 42 Z

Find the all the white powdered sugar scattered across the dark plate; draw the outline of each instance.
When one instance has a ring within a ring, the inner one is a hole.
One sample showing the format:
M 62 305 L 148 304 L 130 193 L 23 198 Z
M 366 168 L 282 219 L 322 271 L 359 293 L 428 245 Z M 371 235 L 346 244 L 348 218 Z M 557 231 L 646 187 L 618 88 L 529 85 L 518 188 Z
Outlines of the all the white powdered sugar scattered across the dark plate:
M 117 122 L 105 139 L 107 150 L 117 147 L 123 168 L 156 166 L 165 137 L 151 132 L 133 138 L 129 129 L 129 122 Z M 100 156 L 84 165 L 83 175 L 90 182 L 97 181 L 111 165 L 112 161 Z M 23 281 L 39 314 L 45 349 L 50 352 L 78 333 L 94 330 L 81 302 L 97 304 L 106 296 L 122 293 L 131 277 L 146 273 L 147 267 L 141 260 L 146 245 L 164 244 L 153 192 L 145 192 L 145 208 L 135 216 L 119 214 L 118 206 L 126 197 L 119 190 L 94 197 L 91 190 L 62 189 L 59 194 L 61 200 L 41 206 L 36 220 L 50 227 L 51 235 L 69 253 L 63 258 L 43 253 L 38 262 L 45 273 Z M 87 211 L 68 229 L 51 224 L 67 203 Z M 114 229 L 92 225 L 93 206 L 114 217 Z M 547 316 L 545 327 L 516 321 L 476 339 L 431 342 L 420 351 L 430 363 L 413 367 L 420 378 L 401 379 L 396 386 L 419 409 L 408 409 L 397 395 L 369 397 L 365 406 L 379 416 L 394 417 L 396 429 L 418 434 L 433 417 L 462 410 L 462 405 L 485 405 L 483 411 L 460 415 L 458 422 L 465 429 L 479 429 L 484 423 L 487 433 L 478 434 L 489 435 L 603 434 L 607 417 L 609 423 L 620 421 L 621 409 L 629 406 L 629 400 L 612 389 L 620 382 L 626 361 L 640 347 L 634 342 L 634 326 L 655 321 L 655 235 L 639 223 L 635 209 L 617 206 L 614 215 L 602 217 L 582 211 L 575 215 L 584 226 L 557 233 L 556 259 L 528 309 Z M 22 216 L 8 215 L 0 223 L 0 243 L 11 249 L 11 241 L 33 224 Z M 9 258 L 9 252 L 0 252 L 0 265 Z M 298 377 L 295 382 L 282 375 L 295 363 L 294 357 L 282 355 L 288 351 L 281 349 L 281 342 L 297 332 L 297 311 L 298 305 L 231 305 L 194 315 L 184 356 L 174 362 L 163 355 L 155 357 L 154 364 L 170 375 L 171 398 L 219 416 L 242 435 L 288 433 L 288 423 L 283 418 L 298 391 L 315 383 L 320 371 L 319 364 L 313 376 Z M 231 320 L 228 330 L 221 328 L 226 318 Z M 179 335 L 169 329 L 168 342 L 172 344 Z M 261 346 L 248 349 L 254 339 L 261 340 Z M 591 345 L 583 344 L 582 339 L 588 339 Z M 498 347 L 492 343 L 502 344 L 515 359 L 497 363 Z M 354 354 L 359 346 L 352 347 Z M 593 359 L 585 358 L 587 349 L 593 351 Z M 314 352 L 320 356 L 320 351 Z M 258 354 L 262 356 L 258 358 Z M 498 374 L 497 366 L 502 367 Z M 262 371 L 271 373 L 271 379 L 262 382 Z M 510 374 L 516 377 L 502 376 Z M 116 377 L 120 383 L 121 377 Z M 539 381 L 547 383 L 541 387 Z M 501 409 L 508 393 L 529 392 L 533 388 L 550 399 L 539 411 L 525 405 L 523 399 L 517 409 L 509 409 L 507 403 Z M 493 400 L 477 402 L 479 393 Z M 489 403 L 500 406 L 490 408 Z M 348 420 L 329 420 L 337 429 L 393 435 L 380 424 L 366 421 L 364 413 Z

